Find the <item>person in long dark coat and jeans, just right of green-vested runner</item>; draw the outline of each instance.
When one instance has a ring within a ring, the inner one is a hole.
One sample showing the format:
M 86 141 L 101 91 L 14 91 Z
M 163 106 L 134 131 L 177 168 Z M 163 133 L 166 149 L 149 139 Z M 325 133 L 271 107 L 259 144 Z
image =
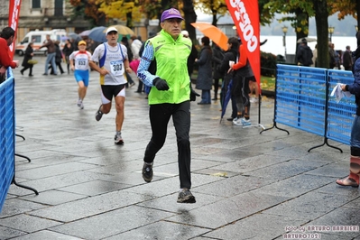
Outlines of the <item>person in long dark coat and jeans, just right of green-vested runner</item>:
M 213 53 L 210 47 L 210 39 L 208 37 L 201 38 L 202 49 L 200 58 L 195 60 L 198 64 L 198 79 L 196 88 L 202 90 L 201 101 L 198 105 L 211 104 L 210 90 L 213 85 L 212 79 L 212 57 Z

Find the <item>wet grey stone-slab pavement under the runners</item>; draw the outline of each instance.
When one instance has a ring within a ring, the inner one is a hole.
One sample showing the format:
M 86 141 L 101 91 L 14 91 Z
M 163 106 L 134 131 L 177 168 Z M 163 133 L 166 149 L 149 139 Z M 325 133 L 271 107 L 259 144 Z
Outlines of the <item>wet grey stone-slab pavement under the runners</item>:
M 176 202 L 179 191 L 172 125 L 143 181 L 143 152 L 151 137 L 148 105 L 136 85 L 126 89 L 124 145 L 114 144 L 115 108 L 100 122 L 97 72 L 90 73 L 85 109 L 67 73 L 34 77 L 14 69 L 15 179 L 0 214 L 0 239 L 360 239 L 359 190 L 337 186 L 348 173 L 349 146 L 285 125 L 260 134 L 253 126 L 220 124 L 219 102 L 191 103 L 192 193 L 195 204 Z M 63 64 L 64 65 L 64 64 Z M 134 77 L 134 76 L 133 76 Z M 199 101 L 199 99 L 198 99 Z M 274 101 L 263 97 L 261 123 L 272 126 Z M 337 227 L 339 226 L 339 227 Z M 341 227 L 340 227 L 341 226 Z M 292 231 L 291 231 L 292 230 Z M 291 232 L 292 235 L 285 235 Z M 301 234 L 301 235 L 300 235 Z

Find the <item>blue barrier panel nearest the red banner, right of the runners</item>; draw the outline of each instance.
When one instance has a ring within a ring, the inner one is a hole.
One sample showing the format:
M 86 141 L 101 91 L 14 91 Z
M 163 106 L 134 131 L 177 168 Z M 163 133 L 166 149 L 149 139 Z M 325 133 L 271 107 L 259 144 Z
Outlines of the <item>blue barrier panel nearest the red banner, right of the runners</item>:
M 325 136 L 327 69 L 277 65 L 275 122 Z

